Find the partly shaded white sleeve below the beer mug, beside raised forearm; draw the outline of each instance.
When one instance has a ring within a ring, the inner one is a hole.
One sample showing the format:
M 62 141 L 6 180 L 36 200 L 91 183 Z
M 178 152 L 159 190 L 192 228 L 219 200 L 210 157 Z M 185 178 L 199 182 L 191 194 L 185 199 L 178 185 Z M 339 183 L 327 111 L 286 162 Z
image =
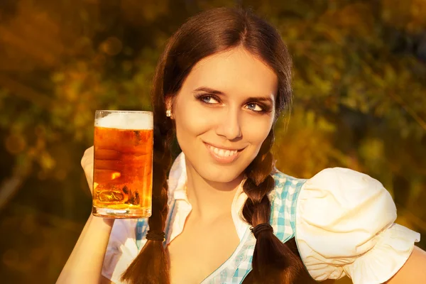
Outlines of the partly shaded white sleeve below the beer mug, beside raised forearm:
M 116 284 L 121 283 L 121 274 L 138 255 L 136 223 L 136 219 L 116 219 L 109 235 L 102 275 Z

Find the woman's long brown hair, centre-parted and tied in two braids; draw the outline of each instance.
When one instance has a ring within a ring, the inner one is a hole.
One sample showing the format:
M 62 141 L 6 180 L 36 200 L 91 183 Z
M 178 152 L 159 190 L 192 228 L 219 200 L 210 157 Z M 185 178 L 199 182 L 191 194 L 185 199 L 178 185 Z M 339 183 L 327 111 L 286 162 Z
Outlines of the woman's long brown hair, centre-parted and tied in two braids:
M 165 97 L 174 96 L 192 67 L 209 55 L 242 46 L 266 62 L 278 76 L 276 117 L 291 104 L 291 59 L 278 31 L 261 18 L 243 9 L 211 9 L 192 16 L 168 40 L 153 80 L 154 163 L 153 214 L 150 231 L 160 234 L 168 214 L 166 175 L 170 168 L 170 141 L 173 121 L 165 116 Z M 275 119 L 276 119 L 275 117 Z M 275 124 L 275 122 L 274 122 Z M 251 226 L 268 223 L 273 190 L 271 129 L 256 158 L 246 168 L 244 192 L 248 199 L 243 216 Z M 170 283 L 169 258 L 162 241 L 148 240 L 122 276 L 129 283 Z M 293 283 L 302 268 L 300 258 L 271 231 L 258 235 L 252 261 L 253 271 L 245 283 Z

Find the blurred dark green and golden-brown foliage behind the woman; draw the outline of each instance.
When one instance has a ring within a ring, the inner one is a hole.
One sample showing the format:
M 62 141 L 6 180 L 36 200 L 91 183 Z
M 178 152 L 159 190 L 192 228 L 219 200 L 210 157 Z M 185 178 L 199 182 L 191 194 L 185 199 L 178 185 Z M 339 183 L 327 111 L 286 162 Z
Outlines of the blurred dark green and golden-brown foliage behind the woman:
M 236 4 L 293 55 L 278 168 L 367 173 L 398 223 L 425 235 L 426 1 L 1 0 L 1 283 L 55 283 L 91 209 L 80 159 L 94 110 L 150 109 L 165 40 L 188 16 Z

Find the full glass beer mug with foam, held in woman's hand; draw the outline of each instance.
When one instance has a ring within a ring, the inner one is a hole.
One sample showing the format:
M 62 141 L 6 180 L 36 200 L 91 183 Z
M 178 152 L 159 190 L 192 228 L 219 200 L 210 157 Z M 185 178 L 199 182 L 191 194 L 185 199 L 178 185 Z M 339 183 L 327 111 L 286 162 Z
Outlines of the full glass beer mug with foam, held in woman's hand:
M 92 214 L 151 216 L 153 113 L 96 111 Z

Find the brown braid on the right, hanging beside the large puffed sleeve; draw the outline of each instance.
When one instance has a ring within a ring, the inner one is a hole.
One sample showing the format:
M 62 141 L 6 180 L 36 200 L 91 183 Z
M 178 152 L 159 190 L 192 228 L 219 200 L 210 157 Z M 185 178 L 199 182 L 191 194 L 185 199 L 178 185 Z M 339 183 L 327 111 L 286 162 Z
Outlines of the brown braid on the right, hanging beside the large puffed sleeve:
M 271 202 L 268 193 L 273 190 L 275 181 L 271 176 L 273 170 L 273 130 L 263 142 L 256 158 L 246 169 L 247 180 L 244 192 L 249 197 L 243 207 L 243 216 L 251 226 L 269 223 L 271 218 Z M 283 244 L 272 231 L 261 231 L 256 239 L 253 252 L 253 271 L 244 283 L 285 283 L 295 281 L 297 274 L 303 269 L 302 261 L 295 253 Z

